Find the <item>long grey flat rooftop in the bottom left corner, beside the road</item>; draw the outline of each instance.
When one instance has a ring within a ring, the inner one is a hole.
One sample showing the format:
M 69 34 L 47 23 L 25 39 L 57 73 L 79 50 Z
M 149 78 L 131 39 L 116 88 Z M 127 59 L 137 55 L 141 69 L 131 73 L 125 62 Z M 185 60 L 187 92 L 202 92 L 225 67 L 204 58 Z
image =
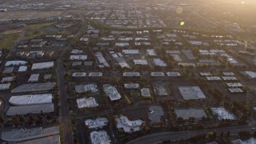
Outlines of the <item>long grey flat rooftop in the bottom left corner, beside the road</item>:
M 30 129 L 12 129 L 2 132 L 2 140 L 7 142 L 21 142 L 27 141 L 34 138 L 45 138 L 51 135 L 58 135 L 59 127 L 35 127 Z

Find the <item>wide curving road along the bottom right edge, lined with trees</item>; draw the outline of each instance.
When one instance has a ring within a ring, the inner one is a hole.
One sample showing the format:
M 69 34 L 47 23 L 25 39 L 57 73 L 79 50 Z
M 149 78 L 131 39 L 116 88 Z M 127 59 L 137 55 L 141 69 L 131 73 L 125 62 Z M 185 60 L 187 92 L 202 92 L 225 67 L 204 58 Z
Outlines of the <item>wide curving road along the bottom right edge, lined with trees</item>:
M 232 126 L 232 127 L 222 127 L 218 129 L 210 130 L 188 130 L 188 131 L 178 131 L 178 132 L 163 132 L 157 134 L 149 134 L 137 139 L 134 139 L 126 144 L 144 144 L 144 143 L 158 143 L 162 141 L 174 142 L 181 138 L 190 138 L 196 134 L 206 134 L 212 131 L 215 131 L 217 135 L 221 132 L 226 132 L 230 130 L 231 135 L 237 135 L 240 130 L 251 130 L 252 126 Z

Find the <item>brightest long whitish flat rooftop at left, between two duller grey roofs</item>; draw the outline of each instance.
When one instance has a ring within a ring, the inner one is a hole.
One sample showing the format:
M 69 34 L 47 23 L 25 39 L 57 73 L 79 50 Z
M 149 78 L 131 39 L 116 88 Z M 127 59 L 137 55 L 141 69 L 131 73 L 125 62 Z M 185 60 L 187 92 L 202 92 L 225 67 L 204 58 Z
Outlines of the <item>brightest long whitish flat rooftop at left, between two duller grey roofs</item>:
M 9 99 L 10 104 L 15 106 L 52 103 L 52 94 L 18 95 Z

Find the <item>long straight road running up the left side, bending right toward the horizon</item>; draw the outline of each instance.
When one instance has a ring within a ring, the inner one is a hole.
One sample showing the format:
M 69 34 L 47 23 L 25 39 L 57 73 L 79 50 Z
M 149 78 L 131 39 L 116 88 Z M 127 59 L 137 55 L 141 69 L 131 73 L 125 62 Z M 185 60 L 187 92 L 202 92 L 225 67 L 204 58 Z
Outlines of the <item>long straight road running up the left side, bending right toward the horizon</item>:
M 63 50 L 62 53 L 60 54 L 58 58 L 58 91 L 60 93 L 60 103 L 61 103 L 61 114 L 60 114 L 60 129 L 62 132 L 62 143 L 66 144 L 72 144 L 74 143 L 73 140 L 73 132 L 71 128 L 71 120 L 70 120 L 70 110 L 67 102 L 68 94 L 66 93 L 66 79 L 65 79 L 65 68 L 63 65 L 63 57 L 66 52 L 66 50 L 69 50 L 71 47 L 71 44 L 74 42 L 76 38 L 80 34 L 82 34 L 83 27 L 85 26 L 85 18 L 82 16 L 82 26 L 80 30 L 78 31 L 77 34 L 74 35 L 74 38 L 71 40 L 70 44 L 66 46 Z

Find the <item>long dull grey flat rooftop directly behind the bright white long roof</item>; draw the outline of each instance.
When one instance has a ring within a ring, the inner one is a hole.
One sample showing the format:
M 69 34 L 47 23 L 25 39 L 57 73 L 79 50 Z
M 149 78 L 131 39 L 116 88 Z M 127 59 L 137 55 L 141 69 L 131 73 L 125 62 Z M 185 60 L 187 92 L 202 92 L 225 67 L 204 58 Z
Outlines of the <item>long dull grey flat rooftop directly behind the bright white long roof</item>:
M 35 91 L 48 91 L 53 90 L 55 82 L 46 82 L 46 83 L 29 83 L 23 84 L 11 90 L 11 93 L 24 93 L 24 92 L 35 92 Z

